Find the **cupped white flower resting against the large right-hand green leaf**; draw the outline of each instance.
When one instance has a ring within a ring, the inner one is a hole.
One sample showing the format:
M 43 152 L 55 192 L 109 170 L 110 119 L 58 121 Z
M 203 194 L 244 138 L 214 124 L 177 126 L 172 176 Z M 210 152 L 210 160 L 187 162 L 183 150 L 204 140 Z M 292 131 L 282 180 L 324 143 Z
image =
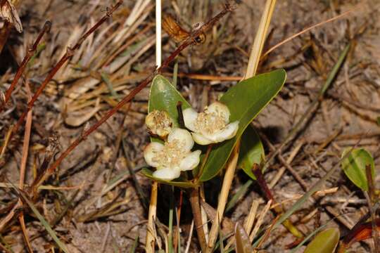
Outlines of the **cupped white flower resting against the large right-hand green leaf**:
M 187 108 L 183 114 L 185 126 L 193 131 L 194 141 L 201 145 L 229 140 L 239 129 L 239 121 L 229 123 L 229 109 L 220 102 L 212 103 L 204 112 Z

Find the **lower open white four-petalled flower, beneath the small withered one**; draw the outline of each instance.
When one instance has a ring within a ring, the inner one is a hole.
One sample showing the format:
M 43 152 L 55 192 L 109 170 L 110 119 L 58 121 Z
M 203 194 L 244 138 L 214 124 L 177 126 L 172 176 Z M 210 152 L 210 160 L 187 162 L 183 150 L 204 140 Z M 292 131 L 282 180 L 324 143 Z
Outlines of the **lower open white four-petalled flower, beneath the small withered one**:
M 201 150 L 191 152 L 194 141 L 189 131 L 172 129 L 167 141 L 162 144 L 152 142 L 144 149 L 144 159 L 151 167 L 156 167 L 153 176 L 158 179 L 172 180 L 181 171 L 194 169 L 199 164 Z

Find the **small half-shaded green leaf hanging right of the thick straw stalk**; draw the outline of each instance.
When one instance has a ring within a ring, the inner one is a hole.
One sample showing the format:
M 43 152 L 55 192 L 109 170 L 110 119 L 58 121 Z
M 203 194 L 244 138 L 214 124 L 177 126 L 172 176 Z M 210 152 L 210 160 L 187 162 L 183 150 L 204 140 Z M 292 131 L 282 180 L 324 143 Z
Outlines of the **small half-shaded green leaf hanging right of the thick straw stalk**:
M 253 164 L 260 164 L 264 157 L 264 147 L 262 146 L 258 133 L 256 133 L 253 127 L 248 126 L 241 136 L 239 167 L 241 167 L 251 179 L 256 180 L 252 172 Z

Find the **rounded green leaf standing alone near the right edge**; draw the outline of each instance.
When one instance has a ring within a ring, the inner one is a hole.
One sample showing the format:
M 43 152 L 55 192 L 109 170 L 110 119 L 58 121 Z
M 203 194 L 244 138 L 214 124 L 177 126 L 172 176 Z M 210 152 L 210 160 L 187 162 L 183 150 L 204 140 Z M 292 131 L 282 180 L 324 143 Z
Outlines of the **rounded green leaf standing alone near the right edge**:
M 350 148 L 343 151 L 342 157 L 348 153 Z M 367 175 L 365 173 L 366 165 L 371 166 L 372 179 L 375 177 L 374 159 L 367 150 L 363 148 L 355 148 L 350 155 L 342 161 L 342 169 L 348 179 L 352 181 L 355 186 L 362 190 L 368 190 Z

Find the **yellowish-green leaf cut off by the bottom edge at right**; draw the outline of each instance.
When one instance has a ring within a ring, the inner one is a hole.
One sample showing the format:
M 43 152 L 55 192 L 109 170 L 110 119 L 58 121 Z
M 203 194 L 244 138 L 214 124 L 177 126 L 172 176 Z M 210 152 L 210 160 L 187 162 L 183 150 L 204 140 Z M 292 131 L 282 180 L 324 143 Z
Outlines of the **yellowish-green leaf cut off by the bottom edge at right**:
M 334 253 L 338 242 L 338 228 L 327 228 L 315 235 L 303 253 Z

